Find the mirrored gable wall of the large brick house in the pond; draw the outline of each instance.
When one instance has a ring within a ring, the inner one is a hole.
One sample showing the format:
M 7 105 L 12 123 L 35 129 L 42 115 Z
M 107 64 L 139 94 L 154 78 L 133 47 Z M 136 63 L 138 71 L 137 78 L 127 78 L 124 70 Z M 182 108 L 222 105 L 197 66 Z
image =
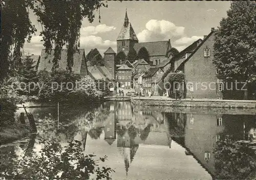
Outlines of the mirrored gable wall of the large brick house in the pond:
M 219 134 L 224 130 L 223 119 L 218 115 L 187 114 L 185 146 L 199 163 L 211 174 L 215 174 L 214 147 Z

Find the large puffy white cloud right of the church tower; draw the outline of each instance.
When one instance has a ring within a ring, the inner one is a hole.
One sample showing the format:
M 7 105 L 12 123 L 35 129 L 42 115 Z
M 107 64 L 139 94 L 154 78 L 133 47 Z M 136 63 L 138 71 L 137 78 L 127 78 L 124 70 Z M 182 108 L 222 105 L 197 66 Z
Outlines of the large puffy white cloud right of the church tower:
M 137 35 L 140 42 L 170 39 L 172 47 L 175 47 L 178 51 L 184 50 L 200 38 L 203 39 L 203 36 L 187 37 L 184 27 L 176 26 L 173 22 L 167 20 L 151 19 L 146 23 L 145 28 Z

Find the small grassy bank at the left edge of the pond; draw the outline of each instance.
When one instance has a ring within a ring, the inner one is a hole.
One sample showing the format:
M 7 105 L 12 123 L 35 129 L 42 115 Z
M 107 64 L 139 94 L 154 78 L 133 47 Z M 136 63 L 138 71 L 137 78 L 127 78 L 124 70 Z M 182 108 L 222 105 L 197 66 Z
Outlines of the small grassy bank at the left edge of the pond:
M 0 143 L 6 144 L 11 143 L 20 138 L 26 137 L 30 132 L 29 126 L 15 123 L 8 127 L 1 127 L 0 132 Z

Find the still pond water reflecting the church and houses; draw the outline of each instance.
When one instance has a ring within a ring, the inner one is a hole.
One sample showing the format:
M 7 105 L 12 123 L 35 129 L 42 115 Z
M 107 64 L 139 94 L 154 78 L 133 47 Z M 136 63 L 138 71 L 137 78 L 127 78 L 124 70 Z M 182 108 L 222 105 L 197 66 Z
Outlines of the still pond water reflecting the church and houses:
M 38 151 L 38 138 L 56 138 L 63 145 L 82 140 L 86 153 L 108 156 L 103 165 L 115 170 L 113 179 L 256 178 L 256 119 L 246 109 L 105 102 L 90 109 L 61 107 L 59 122 L 56 107 L 28 110 L 38 134 L 2 145 L 1 169 L 29 149 Z

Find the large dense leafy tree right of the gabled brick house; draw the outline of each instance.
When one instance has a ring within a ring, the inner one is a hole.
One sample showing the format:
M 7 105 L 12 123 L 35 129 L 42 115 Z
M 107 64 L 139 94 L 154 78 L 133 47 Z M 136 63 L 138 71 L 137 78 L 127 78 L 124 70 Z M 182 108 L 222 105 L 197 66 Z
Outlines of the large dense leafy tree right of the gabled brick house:
M 234 1 L 215 33 L 214 60 L 219 78 L 255 81 L 255 2 Z

